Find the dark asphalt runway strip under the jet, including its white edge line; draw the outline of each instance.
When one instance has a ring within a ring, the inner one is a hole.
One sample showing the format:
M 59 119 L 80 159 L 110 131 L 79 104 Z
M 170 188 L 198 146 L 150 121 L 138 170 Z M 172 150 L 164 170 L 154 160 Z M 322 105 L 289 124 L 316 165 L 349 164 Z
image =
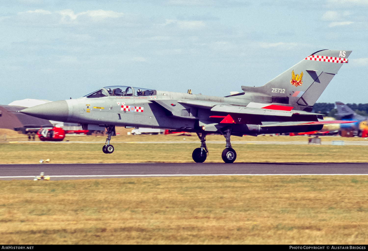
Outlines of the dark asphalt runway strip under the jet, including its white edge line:
M 0 164 L 0 179 L 51 180 L 217 175 L 368 175 L 368 163 Z

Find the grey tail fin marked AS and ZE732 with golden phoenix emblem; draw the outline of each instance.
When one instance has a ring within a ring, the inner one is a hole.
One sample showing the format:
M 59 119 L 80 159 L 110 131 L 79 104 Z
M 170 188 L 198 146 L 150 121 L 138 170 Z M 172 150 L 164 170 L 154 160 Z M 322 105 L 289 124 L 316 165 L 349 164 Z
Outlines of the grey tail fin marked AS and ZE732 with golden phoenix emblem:
M 272 103 L 301 106 L 298 110 L 311 110 L 343 63 L 348 62 L 350 53 L 340 50 L 316 51 L 264 86 L 242 86 L 242 89 L 244 92 L 271 96 Z

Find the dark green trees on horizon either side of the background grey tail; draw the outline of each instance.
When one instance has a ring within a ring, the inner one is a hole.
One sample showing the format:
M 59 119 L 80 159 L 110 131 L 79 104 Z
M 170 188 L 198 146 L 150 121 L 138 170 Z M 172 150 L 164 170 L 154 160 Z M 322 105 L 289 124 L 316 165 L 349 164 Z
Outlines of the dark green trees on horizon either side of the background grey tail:
M 347 103 L 346 105 L 355 111 L 355 113 L 362 116 L 368 116 L 368 103 L 360 103 L 358 105 L 356 103 Z M 315 103 L 312 112 L 320 113 L 329 117 L 335 117 L 337 109 L 335 108 L 335 103 Z

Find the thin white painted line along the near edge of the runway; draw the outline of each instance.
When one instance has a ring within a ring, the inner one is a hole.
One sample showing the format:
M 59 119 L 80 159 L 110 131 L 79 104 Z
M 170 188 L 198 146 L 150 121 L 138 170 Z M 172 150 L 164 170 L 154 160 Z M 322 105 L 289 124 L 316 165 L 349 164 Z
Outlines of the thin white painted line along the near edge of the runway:
M 63 177 L 167 177 L 167 176 L 303 176 L 303 175 L 368 175 L 368 174 L 126 174 L 126 175 L 47 175 Z M 35 176 L 1 176 L 0 178 L 34 178 Z

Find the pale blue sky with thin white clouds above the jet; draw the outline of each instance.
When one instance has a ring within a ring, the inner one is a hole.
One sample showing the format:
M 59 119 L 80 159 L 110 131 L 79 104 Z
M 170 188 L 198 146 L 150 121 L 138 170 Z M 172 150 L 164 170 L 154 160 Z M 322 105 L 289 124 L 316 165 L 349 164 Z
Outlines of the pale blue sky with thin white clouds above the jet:
M 317 102 L 368 103 L 368 0 L 0 1 L 0 104 L 104 86 L 226 96 L 352 50 Z

